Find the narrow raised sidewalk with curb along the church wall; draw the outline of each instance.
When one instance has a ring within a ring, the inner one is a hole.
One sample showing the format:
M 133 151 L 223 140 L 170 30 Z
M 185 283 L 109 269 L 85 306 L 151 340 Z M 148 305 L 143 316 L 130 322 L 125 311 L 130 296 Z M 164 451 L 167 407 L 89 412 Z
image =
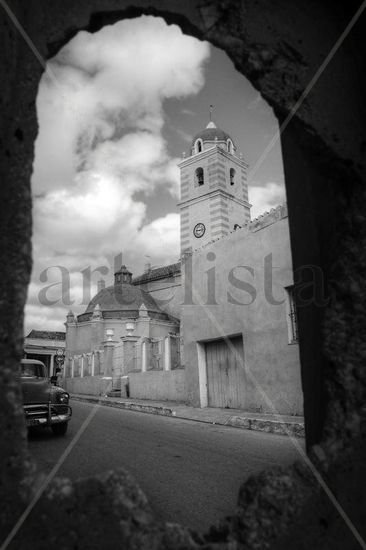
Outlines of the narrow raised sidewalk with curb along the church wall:
M 70 394 L 70 397 L 71 400 L 100 403 L 109 407 L 173 416 L 195 422 L 233 426 L 235 428 L 289 435 L 292 437 L 305 437 L 304 418 L 302 416 L 249 413 L 240 409 L 218 409 L 213 407 L 200 409 L 175 401 L 150 401 L 126 397 L 98 397 L 81 394 Z

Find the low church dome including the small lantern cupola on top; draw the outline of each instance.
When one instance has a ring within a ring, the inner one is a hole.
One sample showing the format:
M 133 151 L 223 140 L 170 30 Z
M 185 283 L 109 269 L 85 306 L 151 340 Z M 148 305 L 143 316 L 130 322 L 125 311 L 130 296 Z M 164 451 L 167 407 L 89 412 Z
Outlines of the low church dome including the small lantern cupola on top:
M 91 319 L 95 308 L 102 313 L 104 319 L 135 318 L 139 316 L 139 309 L 143 304 L 149 317 L 169 319 L 168 315 L 159 308 L 148 292 L 131 284 L 130 277 L 127 278 L 128 282 L 123 282 L 124 279 L 120 277 L 121 273 L 122 275 L 125 273 L 131 275 L 125 266 L 122 266 L 121 270 L 115 273 L 114 285 L 101 289 L 94 296 L 85 312 L 78 315 L 79 322 Z

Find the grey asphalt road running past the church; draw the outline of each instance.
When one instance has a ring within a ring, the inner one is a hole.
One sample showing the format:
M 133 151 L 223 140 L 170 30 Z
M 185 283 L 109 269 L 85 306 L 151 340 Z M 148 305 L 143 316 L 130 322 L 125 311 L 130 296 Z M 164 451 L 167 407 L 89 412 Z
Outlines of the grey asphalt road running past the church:
M 94 407 L 77 401 L 71 405 L 65 437 L 50 430 L 29 437 L 30 453 L 46 473 Z M 205 531 L 234 513 L 239 486 L 251 474 L 296 458 L 285 436 L 102 406 L 57 475 L 77 479 L 123 467 L 160 519 Z

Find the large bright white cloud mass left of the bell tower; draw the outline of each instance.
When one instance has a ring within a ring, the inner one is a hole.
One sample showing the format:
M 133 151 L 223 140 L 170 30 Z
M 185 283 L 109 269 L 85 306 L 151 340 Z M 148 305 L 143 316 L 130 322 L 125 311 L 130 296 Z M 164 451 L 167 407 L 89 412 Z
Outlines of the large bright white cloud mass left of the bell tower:
M 39 304 L 46 284 L 40 274 L 49 266 L 69 270 L 80 295 L 80 270 L 106 265 L 119 250 L 136 262 L 135 273 L 146 253 L 153 263 L 176 259 L 178 216 L 146 224 L 146 204 L 134 195 L 159 189 L 178 195 L 178 159 L 169 156 L 161 133 L 163 102 L 201 89 L 208 56 L 207 43 L 142 17 L 80 32 L 50 62 L 53 78 L 44 74 L 37 97 L 27 327 L 60 322 L 60 304 Z

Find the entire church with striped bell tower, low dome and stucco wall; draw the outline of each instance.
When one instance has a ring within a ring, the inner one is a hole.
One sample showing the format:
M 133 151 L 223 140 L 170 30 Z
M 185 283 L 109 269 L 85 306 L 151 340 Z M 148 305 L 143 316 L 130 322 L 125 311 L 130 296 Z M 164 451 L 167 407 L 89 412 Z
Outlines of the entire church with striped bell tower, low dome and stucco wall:
M 180 260 L 135 278 L 123 266 L 70 312 L 69 391 L 128 379 L 132 398 L 302 415 L 287 208 L 251 220 L 247 167 L 212 120 L 194 137 L 179 163 Z

